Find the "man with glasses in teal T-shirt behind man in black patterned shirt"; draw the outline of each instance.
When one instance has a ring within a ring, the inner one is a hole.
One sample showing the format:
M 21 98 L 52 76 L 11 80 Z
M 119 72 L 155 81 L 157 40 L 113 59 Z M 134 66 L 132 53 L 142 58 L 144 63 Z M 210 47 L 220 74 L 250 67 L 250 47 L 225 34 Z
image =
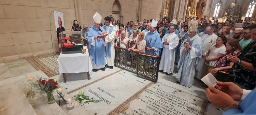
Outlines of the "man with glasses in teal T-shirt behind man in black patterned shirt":
M 250 26 L 245 27 L 242 34 L 243 39 L 240 40 L 239 44 L 241 45 L 242 49 L 244 49 L 252 41 L 252 33 L 250 31 Z

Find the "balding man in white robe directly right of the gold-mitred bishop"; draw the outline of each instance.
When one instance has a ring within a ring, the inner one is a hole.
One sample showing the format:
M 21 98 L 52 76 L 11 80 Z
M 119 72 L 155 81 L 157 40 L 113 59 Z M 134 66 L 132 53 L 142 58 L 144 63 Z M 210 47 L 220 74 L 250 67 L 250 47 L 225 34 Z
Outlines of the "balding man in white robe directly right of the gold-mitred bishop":
M 200 80 L 203 78 L 207 73 L 207 65 L 205 64 L 205 56 L 209 49 L 216 43 L 217 35 L 213 33 L 213 27 L 208 26 L 205 28 L 207 34 L 203 35 L 202 37 L 202 58 L 198 63 L 196 68 L 197 75 L 196 77 Z

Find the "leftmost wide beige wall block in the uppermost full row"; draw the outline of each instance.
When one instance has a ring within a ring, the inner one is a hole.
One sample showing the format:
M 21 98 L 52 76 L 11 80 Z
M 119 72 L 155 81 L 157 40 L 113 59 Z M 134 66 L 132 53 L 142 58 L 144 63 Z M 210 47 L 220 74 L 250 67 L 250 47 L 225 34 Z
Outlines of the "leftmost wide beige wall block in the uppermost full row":
M 37 13 L 33 6 L 3 5 L 6 18 L 11 19 L 36 19 Z M 29 12 L 28 12 L 29 11 Z

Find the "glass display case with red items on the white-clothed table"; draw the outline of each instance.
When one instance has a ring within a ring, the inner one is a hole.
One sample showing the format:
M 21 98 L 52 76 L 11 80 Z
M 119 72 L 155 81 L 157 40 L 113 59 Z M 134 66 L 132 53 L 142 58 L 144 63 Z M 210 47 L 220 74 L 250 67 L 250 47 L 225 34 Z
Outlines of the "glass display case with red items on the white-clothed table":
M 82 53 L 83 39 L 81 31 L 60 32 L 59 39 L 62 54 Z

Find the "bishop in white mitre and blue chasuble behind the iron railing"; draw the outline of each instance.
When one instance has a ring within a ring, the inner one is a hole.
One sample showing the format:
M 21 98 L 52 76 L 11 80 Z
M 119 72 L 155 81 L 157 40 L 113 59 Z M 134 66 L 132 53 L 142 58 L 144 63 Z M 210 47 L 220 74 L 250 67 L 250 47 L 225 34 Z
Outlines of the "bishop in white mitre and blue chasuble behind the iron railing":
M 157 23 L 153 19 L 149 27 L 150 32 L 148 32 L 145 35 L 146 36 L 145 37 L 145 41 L 146 41 L 145 53 L 159 56 L 160 55 L 159 51 L 161 50 L 162 46 L 161 46 L 160 35 L 156 31 L 156 26 L 157 26 Z

